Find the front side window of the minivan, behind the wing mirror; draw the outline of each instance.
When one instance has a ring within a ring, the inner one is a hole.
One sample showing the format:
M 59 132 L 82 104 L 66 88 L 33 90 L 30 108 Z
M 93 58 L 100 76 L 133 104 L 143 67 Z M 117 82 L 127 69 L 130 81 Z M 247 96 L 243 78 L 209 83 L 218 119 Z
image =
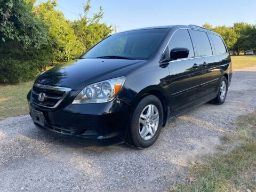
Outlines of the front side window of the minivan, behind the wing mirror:
M 187 48 L 189 49 L 188 58 L 195 57 L 193 45 L 187 29 L 179 29 L 173 34 L 162 59 L 169 58 L 171 50 L 175 47 Z

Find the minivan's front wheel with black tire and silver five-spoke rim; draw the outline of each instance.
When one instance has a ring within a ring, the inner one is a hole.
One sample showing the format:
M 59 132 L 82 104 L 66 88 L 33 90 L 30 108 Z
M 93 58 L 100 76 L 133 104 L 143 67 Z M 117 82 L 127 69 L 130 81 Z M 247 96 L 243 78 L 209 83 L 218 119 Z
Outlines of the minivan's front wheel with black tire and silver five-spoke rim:
M 153 111 L 153 113 L 150 113 L 150 111 Z M 153 145 L 161 132 L 163 117 L 164 112 L 161 101 L 154 95 L 143 97 L 133 107 L 127 130 L 127 145 L 140 149 Z

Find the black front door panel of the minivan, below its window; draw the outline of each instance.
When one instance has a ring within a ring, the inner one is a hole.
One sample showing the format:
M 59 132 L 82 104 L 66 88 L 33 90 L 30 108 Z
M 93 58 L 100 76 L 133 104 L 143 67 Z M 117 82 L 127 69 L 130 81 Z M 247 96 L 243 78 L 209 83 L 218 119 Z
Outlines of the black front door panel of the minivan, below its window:
M 195 106 L 200 98 L 202 74 L 200 59 L 191 58 L 170 62 L 170 94 L 173 115 Z

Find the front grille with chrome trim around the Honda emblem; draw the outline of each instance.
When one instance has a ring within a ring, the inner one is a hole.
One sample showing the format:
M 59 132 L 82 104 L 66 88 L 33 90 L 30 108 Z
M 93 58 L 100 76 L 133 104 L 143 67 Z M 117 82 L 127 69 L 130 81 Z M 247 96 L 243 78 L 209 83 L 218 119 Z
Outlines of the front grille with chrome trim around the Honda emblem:
M 55 108 L 71 91 L 70 88 L 34 84 L 31 91 L 32 101 L 39 106 L 47 108 Z M 39 100 L 39 95 L 44 94 L 43 101 Z

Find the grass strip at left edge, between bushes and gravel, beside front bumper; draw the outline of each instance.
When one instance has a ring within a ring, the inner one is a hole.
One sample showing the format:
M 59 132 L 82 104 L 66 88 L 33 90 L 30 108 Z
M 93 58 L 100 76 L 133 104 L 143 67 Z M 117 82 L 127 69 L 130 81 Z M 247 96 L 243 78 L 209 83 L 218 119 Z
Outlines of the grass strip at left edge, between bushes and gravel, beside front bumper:
M 33 82 L 0 85 L 0 121 L 7 117 L 28 114 L 27 93 Z

